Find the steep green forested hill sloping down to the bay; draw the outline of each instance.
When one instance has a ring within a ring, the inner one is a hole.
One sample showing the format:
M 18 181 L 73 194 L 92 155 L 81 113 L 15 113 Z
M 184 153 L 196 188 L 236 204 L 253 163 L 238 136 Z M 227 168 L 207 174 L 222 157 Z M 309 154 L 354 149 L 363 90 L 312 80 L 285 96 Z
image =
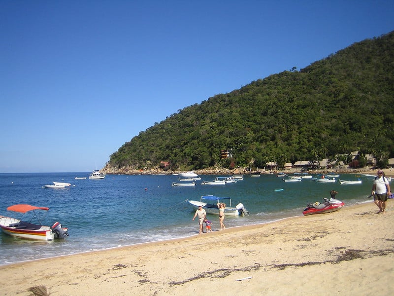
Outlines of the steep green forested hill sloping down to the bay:
M 263 167 L 353 150 L 393 157 L 393 103 L 391 32 L 186 107 L 125 143 L 108 166 Z M 232 157 L 221 160 L 221 149 Z

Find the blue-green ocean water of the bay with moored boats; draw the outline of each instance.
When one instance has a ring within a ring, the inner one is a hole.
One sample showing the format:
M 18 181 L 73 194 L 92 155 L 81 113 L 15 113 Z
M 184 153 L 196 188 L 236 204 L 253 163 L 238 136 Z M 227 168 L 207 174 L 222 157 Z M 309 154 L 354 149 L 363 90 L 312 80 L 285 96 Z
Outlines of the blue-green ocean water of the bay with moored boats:
M 49 258 L 60 255 L 103 250 L 118 246 L 187 237 L 198 233 L 195 211 L 187 199 L 201 195 L 231 197 L 232 206 L 242 202 L 250 212 L 246 217 L 226 216 L 226 227 L 236 227 L 302 216 L 308 202 L 322 201 L 329 191 L 338 191 L 337 199 L 345 207 L 370 199 L 372 181 L 354 174 L 340 179 L 363 180 L 361 185 L 317 183 L 312 180 L 283 182 L 275 175 L 260 178 L 245 175 L 243 181 L 227 185 L 200 185 L 216 176 L 200 176 L 194 187 L 173 187 L 172 175 L 107 175 L 104 180 L 74 180 L 89 173 L 20 173 L 0 174 L 0 215 L 20 218 L 9 212 L 13 204 L 49 207 L 45 225 L 59 221 L 68 227 L 64 240 L 34 241 L 0 233 L 0 265 Z M 338 178 L 337 178 L 338 179 Z M 55 182 L 71 183 L 69 188 L 43 188 Z M 283 191 L 275 191 L 281 189 Z M 327 214 L 330 215 L 330 214 Z M 331 214 L 332 215 L 332 214 Z M 220 229 L 218 216 L 208 215 L 212 229 Z M 209 235 L 209 234 L 206 234 Z

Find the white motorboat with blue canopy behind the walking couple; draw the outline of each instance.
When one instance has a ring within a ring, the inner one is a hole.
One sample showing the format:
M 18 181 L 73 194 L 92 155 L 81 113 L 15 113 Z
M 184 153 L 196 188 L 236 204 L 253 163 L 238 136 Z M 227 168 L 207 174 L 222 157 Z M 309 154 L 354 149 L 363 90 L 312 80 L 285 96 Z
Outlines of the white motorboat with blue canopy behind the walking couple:
M 219 215 L 218 203 L 224 202 L 226 204 L 225 215 L 227 216 L 246 216 L 249 212 L 245 209 L 243 204 L 239 203 L 234 207 L 231 207 L 230 197 L 217 197 L 214 195 L 203 195 L 200 201 L 187 200 L 193 209 L 197 210 L 198 206 L 202 206 L 207 214 Z

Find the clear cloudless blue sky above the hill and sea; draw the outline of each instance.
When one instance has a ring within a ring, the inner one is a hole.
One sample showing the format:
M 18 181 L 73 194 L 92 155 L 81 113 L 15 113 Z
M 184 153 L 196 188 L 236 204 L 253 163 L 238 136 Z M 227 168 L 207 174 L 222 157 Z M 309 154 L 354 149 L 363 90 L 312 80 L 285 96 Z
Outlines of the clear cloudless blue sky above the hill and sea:
M 0 1 L 0 173 L 88 172 L 180 109 L 394 30 L 394 1 Z

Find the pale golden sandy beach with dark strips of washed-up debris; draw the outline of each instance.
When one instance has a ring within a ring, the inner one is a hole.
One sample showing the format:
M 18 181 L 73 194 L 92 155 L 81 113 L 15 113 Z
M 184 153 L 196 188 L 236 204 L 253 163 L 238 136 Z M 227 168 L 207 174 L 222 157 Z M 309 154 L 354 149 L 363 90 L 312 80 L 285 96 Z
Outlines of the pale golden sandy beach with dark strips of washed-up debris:
M 201 235 L 196 223 L 189 238 L 2 266 L 0 295 L 392 295 L 393 209 L 389 199 L 384 214 L 368 202 Z

